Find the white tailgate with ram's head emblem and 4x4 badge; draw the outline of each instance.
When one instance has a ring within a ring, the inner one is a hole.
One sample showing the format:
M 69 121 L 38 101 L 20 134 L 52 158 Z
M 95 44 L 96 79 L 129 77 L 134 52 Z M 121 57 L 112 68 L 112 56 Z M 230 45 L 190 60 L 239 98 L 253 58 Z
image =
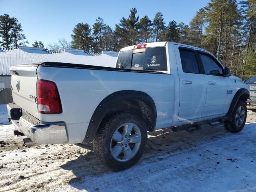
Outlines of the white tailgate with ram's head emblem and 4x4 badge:
M 12 97 L 14 103 L 38 118 L 36 104 L 36 69 L 38 65 L 22 65 L 10 68 L 12 75 Z

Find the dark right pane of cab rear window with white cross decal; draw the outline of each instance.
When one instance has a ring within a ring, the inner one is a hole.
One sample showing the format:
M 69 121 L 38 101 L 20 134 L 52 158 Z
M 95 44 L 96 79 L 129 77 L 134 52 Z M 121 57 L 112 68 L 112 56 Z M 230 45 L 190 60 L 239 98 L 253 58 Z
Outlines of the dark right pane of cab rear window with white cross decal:
M 146 48 L 143 70 L 167 71 L 165 47 Z

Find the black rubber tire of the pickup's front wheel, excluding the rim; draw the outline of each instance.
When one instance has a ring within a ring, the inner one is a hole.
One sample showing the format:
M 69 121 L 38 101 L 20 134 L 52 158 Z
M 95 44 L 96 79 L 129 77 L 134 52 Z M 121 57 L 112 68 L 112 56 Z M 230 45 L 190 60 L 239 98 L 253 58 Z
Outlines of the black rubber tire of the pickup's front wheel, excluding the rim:
M 236 111 L 237 109 L 242 106 L 244 108 L 244 121 L 243 123 L 238 127 L 236 125 L 235 122 L 235 118 L 236 118 Z M 246 122 L 246 117 L 247 117 L 247 108 L 246 108 L 246 102 L 242 101 L 242 100 L 238 100 L 230 118 L 228 120 L 226 120 L 224 122 L 224 127 L 226 128 L 226 130 L 228 130 L 229 132 L 233 132 L 233 133 L 237 133 L 240 132 L 243 128 L 244 128 L 244 124 Z

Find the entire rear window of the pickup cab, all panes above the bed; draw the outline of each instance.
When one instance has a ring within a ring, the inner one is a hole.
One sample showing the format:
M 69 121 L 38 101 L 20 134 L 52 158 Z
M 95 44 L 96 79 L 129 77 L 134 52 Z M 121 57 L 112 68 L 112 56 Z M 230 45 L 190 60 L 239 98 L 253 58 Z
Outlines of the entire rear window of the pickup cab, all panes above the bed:
M 167 71 L 166 48 L 122 51 L 118 56 L 116 68 Z

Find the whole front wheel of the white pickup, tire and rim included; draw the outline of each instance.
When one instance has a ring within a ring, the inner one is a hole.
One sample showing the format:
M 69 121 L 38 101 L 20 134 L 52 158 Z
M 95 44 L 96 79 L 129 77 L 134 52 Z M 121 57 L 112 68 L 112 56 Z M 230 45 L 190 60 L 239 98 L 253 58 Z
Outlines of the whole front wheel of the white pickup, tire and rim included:
M 238 100 L 230 118 L 224 122 L 224 127 L 230 132 L 240 132 L 244 128 L 246 117 L 246 102 Z

